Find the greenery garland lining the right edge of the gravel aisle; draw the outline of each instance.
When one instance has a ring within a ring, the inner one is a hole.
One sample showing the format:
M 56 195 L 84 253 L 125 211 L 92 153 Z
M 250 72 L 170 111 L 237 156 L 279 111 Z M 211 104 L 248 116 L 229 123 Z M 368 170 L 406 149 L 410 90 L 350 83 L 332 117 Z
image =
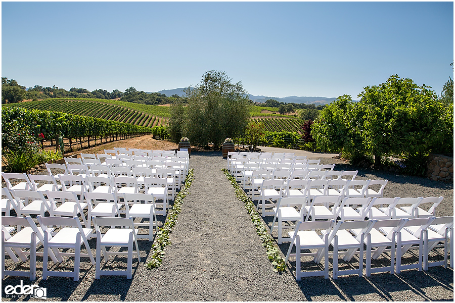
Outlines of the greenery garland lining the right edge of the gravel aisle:
M 261 217 L 256 212 L 256 207 L 253 204 L 253 201 L 250 197 L 243 191 L 242 187 L 236 182 L 236 178 L 231 176 L 229 171 L 225 168 L 221 169 L 228 177 L 229 181 L 231 181 L 232 186 L 236 190 L 237 197 L 243 202 L 245 209 L 251 216 L 251 221 L 256 226 L 256 233 L 262 240 L 262 245 L 267 249 L 267 258 L 272 262 L 274 266 L 274 271 L 281 272 L 286 270 L 286 263 L 283 257 L 279 254 L 279 249 L 274 243 L 274 239 L 270 237 L 268 234 L 268 229 L 265 227 L 264 223 L 262 222 Z

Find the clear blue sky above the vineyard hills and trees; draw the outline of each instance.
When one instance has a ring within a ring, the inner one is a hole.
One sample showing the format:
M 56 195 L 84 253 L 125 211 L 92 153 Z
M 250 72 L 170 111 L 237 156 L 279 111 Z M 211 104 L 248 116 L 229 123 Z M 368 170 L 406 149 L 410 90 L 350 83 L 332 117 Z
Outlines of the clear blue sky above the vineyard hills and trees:
M 350 94 L 393 74 L 440 94 L 452 2 L 2 2 L 2 77 L 90 91 L 195 86 L 225 71 L 252 95 Z

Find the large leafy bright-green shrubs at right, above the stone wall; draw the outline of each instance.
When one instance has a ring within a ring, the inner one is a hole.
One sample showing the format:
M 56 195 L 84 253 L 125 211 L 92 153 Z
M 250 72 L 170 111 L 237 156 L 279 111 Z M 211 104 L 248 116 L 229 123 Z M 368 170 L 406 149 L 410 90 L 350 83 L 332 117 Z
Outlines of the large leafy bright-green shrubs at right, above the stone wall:
M 355 103 L 340 96 L 321 112 L 311 132 L 318 148 L 354 158 L 375 156 L 375 164 L 402 155 L 417 166 L 428 153 L 452 153 L 453 104 L 444 106 L 427 86 L 393 75 L 365 87 L 359 97 Z

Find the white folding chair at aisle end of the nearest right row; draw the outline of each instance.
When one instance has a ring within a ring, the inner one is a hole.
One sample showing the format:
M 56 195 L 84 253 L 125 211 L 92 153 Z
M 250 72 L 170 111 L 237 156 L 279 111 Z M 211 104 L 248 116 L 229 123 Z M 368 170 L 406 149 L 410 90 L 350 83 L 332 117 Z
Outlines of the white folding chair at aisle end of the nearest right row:
M 335 224 L 334 220 L 331 221 L 298 221 L 294 231 L 288 232 L 291 238 L 291 245 L 289 245 L 286 254 L 285 262 L 289 257 L 295 256 L 295 279 L 300 280 L 302 277 L 324 276 L 329 278 L 329 230 Z M 326 230 L 325 234 L 318 234 L 316 230 Z M 295 254 L 291 254 L 292 247 L 295 245 Z M 302 253 L 302 250 L 317 249 L 315 252 Z M 313 262 L 320 264 L 322 256 L 324 256 L 324 270 L 323 271 L 305 271 L 301 270 L 301 257 L 313 256 Z

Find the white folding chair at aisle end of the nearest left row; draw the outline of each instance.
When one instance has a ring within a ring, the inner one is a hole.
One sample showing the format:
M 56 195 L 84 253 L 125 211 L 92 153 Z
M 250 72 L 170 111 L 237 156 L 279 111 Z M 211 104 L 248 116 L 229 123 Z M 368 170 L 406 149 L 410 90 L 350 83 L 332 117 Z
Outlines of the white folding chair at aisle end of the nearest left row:
M 132 276 L 132 253 L 133 242 L 136 245 L 136 252 L 138 254 L 138 262 L 141 262 L 139 254 L 139 245 L 136 234 L 137 229 L 134 229 L 133 219 L 129 218 L 92 218 L 94 227 L 97 233 L 97 261 L 95 279 L 100 276 L 120 275 L 126 276 L 126 279 L 131 279 Z M 101 233 L 102 226 L 120 226 L 123 228 L 110 228 L 106 233 Z M 106 247 L 127 247 L 128 251 L 107 251 Z M 109 261 L 108 255 L 126 255 L 127 256 L 127 269 L 126 270 L 101 270 L 101 251 L 103 251 L 105 263 Z

